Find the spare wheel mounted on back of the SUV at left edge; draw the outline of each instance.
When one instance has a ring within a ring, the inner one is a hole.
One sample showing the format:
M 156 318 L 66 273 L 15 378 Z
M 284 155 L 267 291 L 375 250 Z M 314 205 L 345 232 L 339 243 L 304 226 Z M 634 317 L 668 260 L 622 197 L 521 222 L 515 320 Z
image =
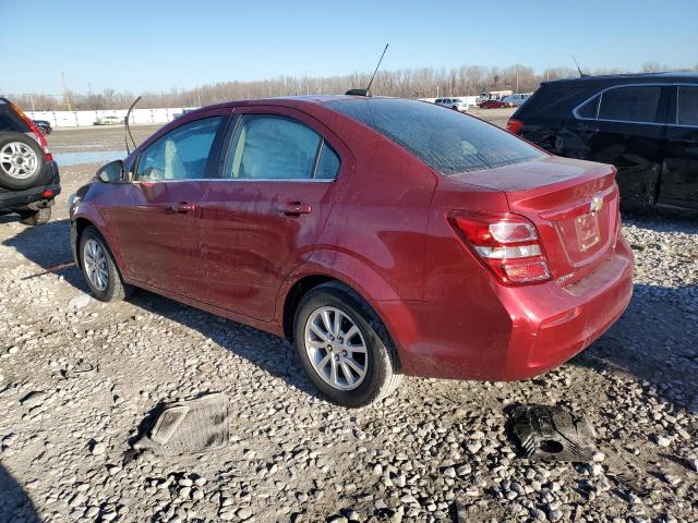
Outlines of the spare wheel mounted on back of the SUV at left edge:
M 23 133 L 0 133 L 0 186 L 11 191 L 33 187 L 44 165 L 44 150 L 34 138 Z

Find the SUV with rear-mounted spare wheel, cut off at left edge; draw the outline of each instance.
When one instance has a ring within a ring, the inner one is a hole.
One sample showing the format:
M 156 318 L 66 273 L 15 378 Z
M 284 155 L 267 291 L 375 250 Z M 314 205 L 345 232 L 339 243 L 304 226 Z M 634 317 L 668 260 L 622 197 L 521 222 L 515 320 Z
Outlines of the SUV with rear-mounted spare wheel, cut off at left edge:
M 0 215 L 17 212 L 22 223 L 40 226 L 51 218 L 60 192 L 46 138 L 20 108 L 0 98 Z

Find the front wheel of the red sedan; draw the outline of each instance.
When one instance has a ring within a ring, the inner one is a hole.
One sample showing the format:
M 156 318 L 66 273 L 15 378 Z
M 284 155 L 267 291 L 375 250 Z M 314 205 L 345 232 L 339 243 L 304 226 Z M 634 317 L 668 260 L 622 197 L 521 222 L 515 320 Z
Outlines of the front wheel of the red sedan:
M 80 236 L 77 255 L 85 282 L 100 302 L 119 302 L 131 294 L 103 235 L 87 227 Z

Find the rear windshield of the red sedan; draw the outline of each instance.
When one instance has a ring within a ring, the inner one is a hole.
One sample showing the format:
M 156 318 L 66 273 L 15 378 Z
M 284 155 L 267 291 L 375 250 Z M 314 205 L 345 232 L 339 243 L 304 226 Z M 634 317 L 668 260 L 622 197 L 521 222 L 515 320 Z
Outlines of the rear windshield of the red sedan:
M 506 131 L 433 104 L 366 98 L 330 101 L 327 107 L 377 131 L 445 175 L 545 156 Z

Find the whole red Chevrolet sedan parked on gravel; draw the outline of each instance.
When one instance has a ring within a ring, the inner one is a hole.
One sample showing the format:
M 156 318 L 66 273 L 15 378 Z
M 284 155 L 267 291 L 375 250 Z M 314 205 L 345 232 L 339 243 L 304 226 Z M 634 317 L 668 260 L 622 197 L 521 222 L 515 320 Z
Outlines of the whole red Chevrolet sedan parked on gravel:
M 292 339 L 332 401 L 402 375 L 512 380 L 624 312 L 633 254 L 611 166 L 421 101 L 206 107 L 71 199 L 98 300 L 132 287 Z

